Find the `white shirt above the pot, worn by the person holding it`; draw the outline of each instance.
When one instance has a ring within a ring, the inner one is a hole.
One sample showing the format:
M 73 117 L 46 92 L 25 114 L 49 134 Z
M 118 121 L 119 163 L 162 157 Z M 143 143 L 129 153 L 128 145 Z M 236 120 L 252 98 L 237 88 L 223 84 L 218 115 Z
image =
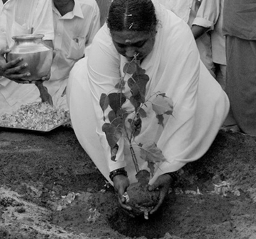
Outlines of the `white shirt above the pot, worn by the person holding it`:
M 13 35 L 26 35 L 31 32 L 45 35 L 44 40 L 53 40 L 50 0 L 9 0 L 4 6 L 0 6 L 0 10 L 1 8 L 0 48 L 11 47 L 14 44 Z

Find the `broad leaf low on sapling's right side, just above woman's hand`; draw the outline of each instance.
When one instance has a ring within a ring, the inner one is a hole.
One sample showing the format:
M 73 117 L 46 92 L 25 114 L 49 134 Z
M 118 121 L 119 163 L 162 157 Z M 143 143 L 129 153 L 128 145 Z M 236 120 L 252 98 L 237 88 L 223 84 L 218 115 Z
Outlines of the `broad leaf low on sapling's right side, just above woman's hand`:
M 147 162 L 157 163 L 166 161 L 165 156 L 163 156 L 160 148 L 157 144 L 143 144 L 140 148 L 140 157 Z

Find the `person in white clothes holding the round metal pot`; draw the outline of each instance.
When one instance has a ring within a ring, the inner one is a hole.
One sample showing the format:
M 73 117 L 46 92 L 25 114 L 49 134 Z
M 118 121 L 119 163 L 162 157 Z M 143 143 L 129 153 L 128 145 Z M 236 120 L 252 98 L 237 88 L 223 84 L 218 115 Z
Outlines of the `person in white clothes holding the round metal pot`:
M 54 37 L 51 1 L 8 0 L 0 1 L 0 114 L 11 113 L 21 104 L 41 101 L 38 88 L 28 81 L 21 81 L 26 62 L 17 66 L 22 59 L 6 62 L 5 54 L 13 46 L 14 35 L 43 34 L 45 44 L 52 46 Z M 49 76 L 45 76 L 43 81 Z M 40 86 L 42 81 L 40 81 Z M 43 88 L 44 89 L 44 88 Z

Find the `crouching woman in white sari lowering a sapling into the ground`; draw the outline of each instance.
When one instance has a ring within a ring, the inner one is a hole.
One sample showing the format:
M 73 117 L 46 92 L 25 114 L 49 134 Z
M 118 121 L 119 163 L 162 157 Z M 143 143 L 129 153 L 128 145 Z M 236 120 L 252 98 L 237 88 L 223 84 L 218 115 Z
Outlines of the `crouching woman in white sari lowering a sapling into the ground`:
M 107 24 L 94 37 L 88 60 L 80 60 L 72 69 L 67 96 L 77 139 L 115 187 L 125 209 L 130 207 L 122 195 L 136 181 L 135 166 L 123 137 L 118 139 L 115 159 L 111 160 L 113 148 L 102 130 L 110 110 L 108 107 L 103 112 L 99 102 L 102 93 L 118 92 L 115 86 L 121 79 L 128 81 L 130 74 L 123 74 L 123 66 L 133 61 L 134 55 L 149 77 L 145 99 L 160 92 L 173 102 L 172 115 L 163 116 L 161 122 L 150 104 L 143 105 L 147 117 L 141 118 L 142 128 L 135 137 L 137 144 L 156 144 L 165 158 L 155 163 L 150 178 L 149 190 L 158 187 L 161 192 L 152 214 L 168 192 L 172 173 L 199 159 L 211 146 L 226 118 L 229 102 L 201 63 L 194 37 L 184 21 L 155 1 L 112 2 Z M 128 84 L 124 87 L 123 93 L 129 95 Z M 130 108 L 127 101 L 123 106 Z M 137 158 L 138 168 L 149 170 L 140 153 Z

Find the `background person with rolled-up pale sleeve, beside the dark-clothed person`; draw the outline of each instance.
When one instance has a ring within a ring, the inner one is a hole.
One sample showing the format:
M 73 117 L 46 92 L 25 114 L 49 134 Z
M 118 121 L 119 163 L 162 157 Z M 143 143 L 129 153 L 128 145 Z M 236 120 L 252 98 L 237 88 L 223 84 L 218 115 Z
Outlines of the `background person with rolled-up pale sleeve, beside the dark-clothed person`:
M 226 48 L 223 35 L 223 4 L 224 0 L 203 0 L 191 25 L 192 33 L 198 42 L 201 59 L 206 59 L 208 70 L 215 76 L 225 90 L 226 87 Z M 201 48 L 200 48 L 201 47 Z

